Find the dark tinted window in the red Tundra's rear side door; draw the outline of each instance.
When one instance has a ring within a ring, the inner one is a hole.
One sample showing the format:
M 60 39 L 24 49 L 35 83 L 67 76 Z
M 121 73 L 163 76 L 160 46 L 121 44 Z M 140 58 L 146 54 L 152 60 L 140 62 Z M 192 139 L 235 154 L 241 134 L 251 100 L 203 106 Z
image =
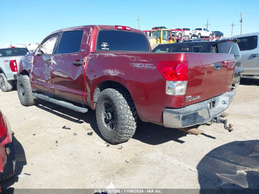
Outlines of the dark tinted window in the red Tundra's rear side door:
M 63 32 L 59 43 L 58 54 L 79 52 L 83 34 L 83 30 Z

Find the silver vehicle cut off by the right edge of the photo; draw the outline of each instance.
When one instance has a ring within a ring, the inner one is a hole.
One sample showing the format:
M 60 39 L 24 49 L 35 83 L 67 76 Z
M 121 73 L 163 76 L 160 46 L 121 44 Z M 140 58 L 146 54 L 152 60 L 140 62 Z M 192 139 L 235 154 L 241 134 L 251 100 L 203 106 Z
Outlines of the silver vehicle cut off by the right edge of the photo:
M 259 32 L 249 34 L 241 34 L 233 36 L 234 39 L 239 39 L 238 46 L 242 56 L 242 66 L 244 73 L 242 78 L 257 78 L 259 79 Z

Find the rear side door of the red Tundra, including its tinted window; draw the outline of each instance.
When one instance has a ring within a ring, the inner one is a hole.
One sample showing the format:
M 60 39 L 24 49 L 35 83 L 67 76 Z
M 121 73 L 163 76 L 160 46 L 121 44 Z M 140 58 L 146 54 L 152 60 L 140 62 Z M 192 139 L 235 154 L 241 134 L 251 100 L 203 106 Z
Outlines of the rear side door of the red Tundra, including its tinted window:
M 56 96 L 83 103 L 84 59 L 89 54 L 91 30 L 87 27 L 62 32 L 51 67 Z

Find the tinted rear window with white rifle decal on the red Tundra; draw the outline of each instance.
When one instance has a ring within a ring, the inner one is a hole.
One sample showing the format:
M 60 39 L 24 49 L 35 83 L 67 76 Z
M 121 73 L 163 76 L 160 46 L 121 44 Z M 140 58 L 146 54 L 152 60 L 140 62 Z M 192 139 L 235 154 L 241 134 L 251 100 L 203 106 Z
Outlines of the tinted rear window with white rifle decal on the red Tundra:
M 144 34 L 119 30 L 101 30 L 97 39 L 101 51 L 149 51 Z

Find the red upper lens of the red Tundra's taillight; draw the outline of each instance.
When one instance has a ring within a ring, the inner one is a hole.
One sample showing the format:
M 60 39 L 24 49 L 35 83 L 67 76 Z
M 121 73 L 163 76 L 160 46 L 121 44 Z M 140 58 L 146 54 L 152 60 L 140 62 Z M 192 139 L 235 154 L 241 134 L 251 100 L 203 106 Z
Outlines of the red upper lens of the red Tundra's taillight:
M 160 61 L 158 70 L 167 81 L 187 81 L 187 61 Z

